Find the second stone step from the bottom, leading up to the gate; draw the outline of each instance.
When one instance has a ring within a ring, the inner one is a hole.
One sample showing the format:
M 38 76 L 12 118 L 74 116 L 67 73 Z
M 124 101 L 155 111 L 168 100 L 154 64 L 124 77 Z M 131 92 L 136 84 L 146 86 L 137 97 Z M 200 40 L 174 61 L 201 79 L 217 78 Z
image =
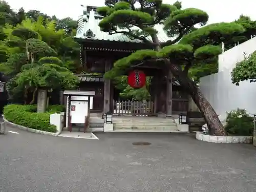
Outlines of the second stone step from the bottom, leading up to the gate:
M 176 126 L 175 122 L 113 122 L 114 126 Z

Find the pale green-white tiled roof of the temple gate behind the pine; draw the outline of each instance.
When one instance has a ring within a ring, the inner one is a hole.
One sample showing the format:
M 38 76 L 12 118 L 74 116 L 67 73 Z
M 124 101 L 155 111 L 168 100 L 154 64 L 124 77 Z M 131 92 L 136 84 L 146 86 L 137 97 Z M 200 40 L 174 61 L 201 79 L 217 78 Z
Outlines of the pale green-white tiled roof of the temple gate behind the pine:
M 91 9 L 90 9 L 91 8 Z M 113 34 L 100 31 L 99 22 L 101 18 L 96 12 L 95 7 L 87 7 L 87 11 L 84 11 L 84 14 L 78 19 L 78 27 L 75 38 L 81 39 L 97 39 L 97 40 L 110 40 L 110 41 L 122 41 L 122 42 L 142 42 L 139 39 L 130 39 L 124 34 Z M 136 27 L 134 27 L 136 29 Z M 155 25 L 155 29 L 158 31 L 158 39 L 160 42 L 165 42 L 170 40 L 164 30 L 162 25 Z M 88 38 L 86 36 L 88 30 L 91 30 L 94 37 Z M 148 40 L 152 40 L 151 37 L 147 37 Z

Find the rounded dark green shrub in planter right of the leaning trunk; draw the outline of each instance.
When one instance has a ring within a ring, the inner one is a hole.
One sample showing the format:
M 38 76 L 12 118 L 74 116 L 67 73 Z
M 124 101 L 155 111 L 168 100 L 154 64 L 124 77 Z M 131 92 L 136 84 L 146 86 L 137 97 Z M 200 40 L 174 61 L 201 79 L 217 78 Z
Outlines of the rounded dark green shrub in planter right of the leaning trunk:
M 253 117 L 246 110 L 237 109 L 227 113 L 225 130 L 231 136 L 252 136 Z

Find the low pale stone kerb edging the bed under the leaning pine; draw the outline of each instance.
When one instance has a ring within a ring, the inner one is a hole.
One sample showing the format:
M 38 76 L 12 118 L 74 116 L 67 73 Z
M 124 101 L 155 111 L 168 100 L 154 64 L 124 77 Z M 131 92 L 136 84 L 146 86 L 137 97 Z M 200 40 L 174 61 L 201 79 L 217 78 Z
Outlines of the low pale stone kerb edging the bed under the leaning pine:
M 252 137 L 246 136 L 212 136 L 196 132 L 196 139 L 210 143 L 252 143 Z

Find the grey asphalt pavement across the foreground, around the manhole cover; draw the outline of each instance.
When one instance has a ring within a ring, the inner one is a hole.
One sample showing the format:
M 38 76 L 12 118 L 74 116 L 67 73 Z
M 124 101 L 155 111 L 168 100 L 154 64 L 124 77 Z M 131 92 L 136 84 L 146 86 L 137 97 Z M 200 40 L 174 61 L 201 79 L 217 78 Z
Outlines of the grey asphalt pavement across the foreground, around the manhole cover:
M 99 140 L 0 135 L 0 191 L 256 190 L 256 148 L 187 134 L 97 134 Z M 150 142 L 136 146 L 133 142 Z

